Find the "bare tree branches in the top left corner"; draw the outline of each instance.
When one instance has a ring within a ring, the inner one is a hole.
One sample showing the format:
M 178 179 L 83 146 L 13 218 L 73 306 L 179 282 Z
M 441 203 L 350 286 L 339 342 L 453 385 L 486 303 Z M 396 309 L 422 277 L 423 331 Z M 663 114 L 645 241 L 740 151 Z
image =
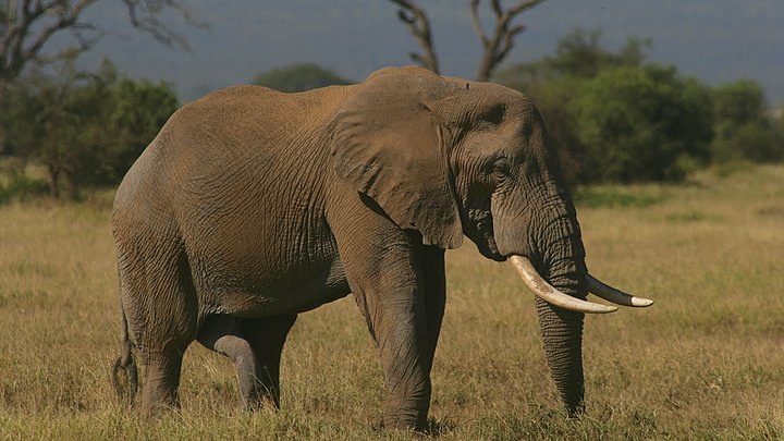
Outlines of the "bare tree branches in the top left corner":
M 83 20 L 85 10 L 100 0 L 4 0 L 0 2 L 0 86 L 13 83 L 30 63 L 46 64 L 87 50 L 103 30 Z M 128 20 L 159 41 L 186 47 L 185 40 L 169 30 L 160 16 L 176 11 L 188 24 L 195 21 L 181 0 L 120 0 Z M 4 4 L 3 4 L 4 3 Z M 69 30 L 77 46 L 46 53 L 47 42 Z

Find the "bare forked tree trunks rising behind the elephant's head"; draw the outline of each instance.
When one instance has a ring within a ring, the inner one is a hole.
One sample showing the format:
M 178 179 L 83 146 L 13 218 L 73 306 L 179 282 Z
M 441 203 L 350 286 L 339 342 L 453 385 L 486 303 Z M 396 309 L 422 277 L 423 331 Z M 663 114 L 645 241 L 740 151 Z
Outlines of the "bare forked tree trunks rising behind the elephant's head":
M 408 26 L 409 32 L 417 40 L 421 54 L 409 53 L 414 62 L 436 73 L 439 72 L 438 57 L 430 30 L 430 21 L 427 12 L 409 0 L 391 0 L 400 7 L 397 17 Z M 509 56 L 514 47 L 514 38 L 525 29 L 523 25 L 514 25 L 512 22 L 520 13 L 542 3 L 544 0 L 520 0 L 510 8 L 504 8 L 501 0 L 490 0 L 490 9 L 495 17 L 492 34 L 487 34 L 479 17 L 479 0 L 470 0 L 468 3 L 474 32 L 482 44 L 482 56 L 479 61 L 476 79 L 489 81 L 495 69 Z

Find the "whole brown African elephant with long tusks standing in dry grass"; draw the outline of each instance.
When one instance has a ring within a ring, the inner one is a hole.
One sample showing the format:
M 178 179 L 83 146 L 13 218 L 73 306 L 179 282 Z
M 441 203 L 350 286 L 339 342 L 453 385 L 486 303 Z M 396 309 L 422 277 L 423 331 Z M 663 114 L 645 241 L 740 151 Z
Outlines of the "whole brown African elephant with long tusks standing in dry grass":
M 302 94 L 223 89 L 171 117 L 117 193 L 123 355 L 143 411 L 177 405 L 194 340 L 235 364 L 245 406 L 279 405 L 297 314 L 353 293 L 383 366 L 385 427 L 422 428 L 445 302 L 444 250 L 464 235 L 537 295 L 552 377 L 583 408 L 583 313 L 630 306 L 588 275 L 541 117 L 519 93 L 383 69 Z M 544 298 L 544 299 L 541 299 Z M 132 343 L 133 342 L 133 343 Z

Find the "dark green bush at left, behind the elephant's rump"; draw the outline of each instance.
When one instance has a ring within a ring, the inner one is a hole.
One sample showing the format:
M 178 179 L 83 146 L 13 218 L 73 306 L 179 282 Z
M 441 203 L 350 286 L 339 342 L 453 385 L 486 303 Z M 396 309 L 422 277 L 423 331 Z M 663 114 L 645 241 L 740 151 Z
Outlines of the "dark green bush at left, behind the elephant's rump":
M 62 181 L 73 196 L 119 183 L 177 107 L 168 84 L 118 77 L 109 62 L 95 75 L 66 63 L 57 78 L 15 85 L 8 102 L 3 152 L 45 166 L 53 197 Z

